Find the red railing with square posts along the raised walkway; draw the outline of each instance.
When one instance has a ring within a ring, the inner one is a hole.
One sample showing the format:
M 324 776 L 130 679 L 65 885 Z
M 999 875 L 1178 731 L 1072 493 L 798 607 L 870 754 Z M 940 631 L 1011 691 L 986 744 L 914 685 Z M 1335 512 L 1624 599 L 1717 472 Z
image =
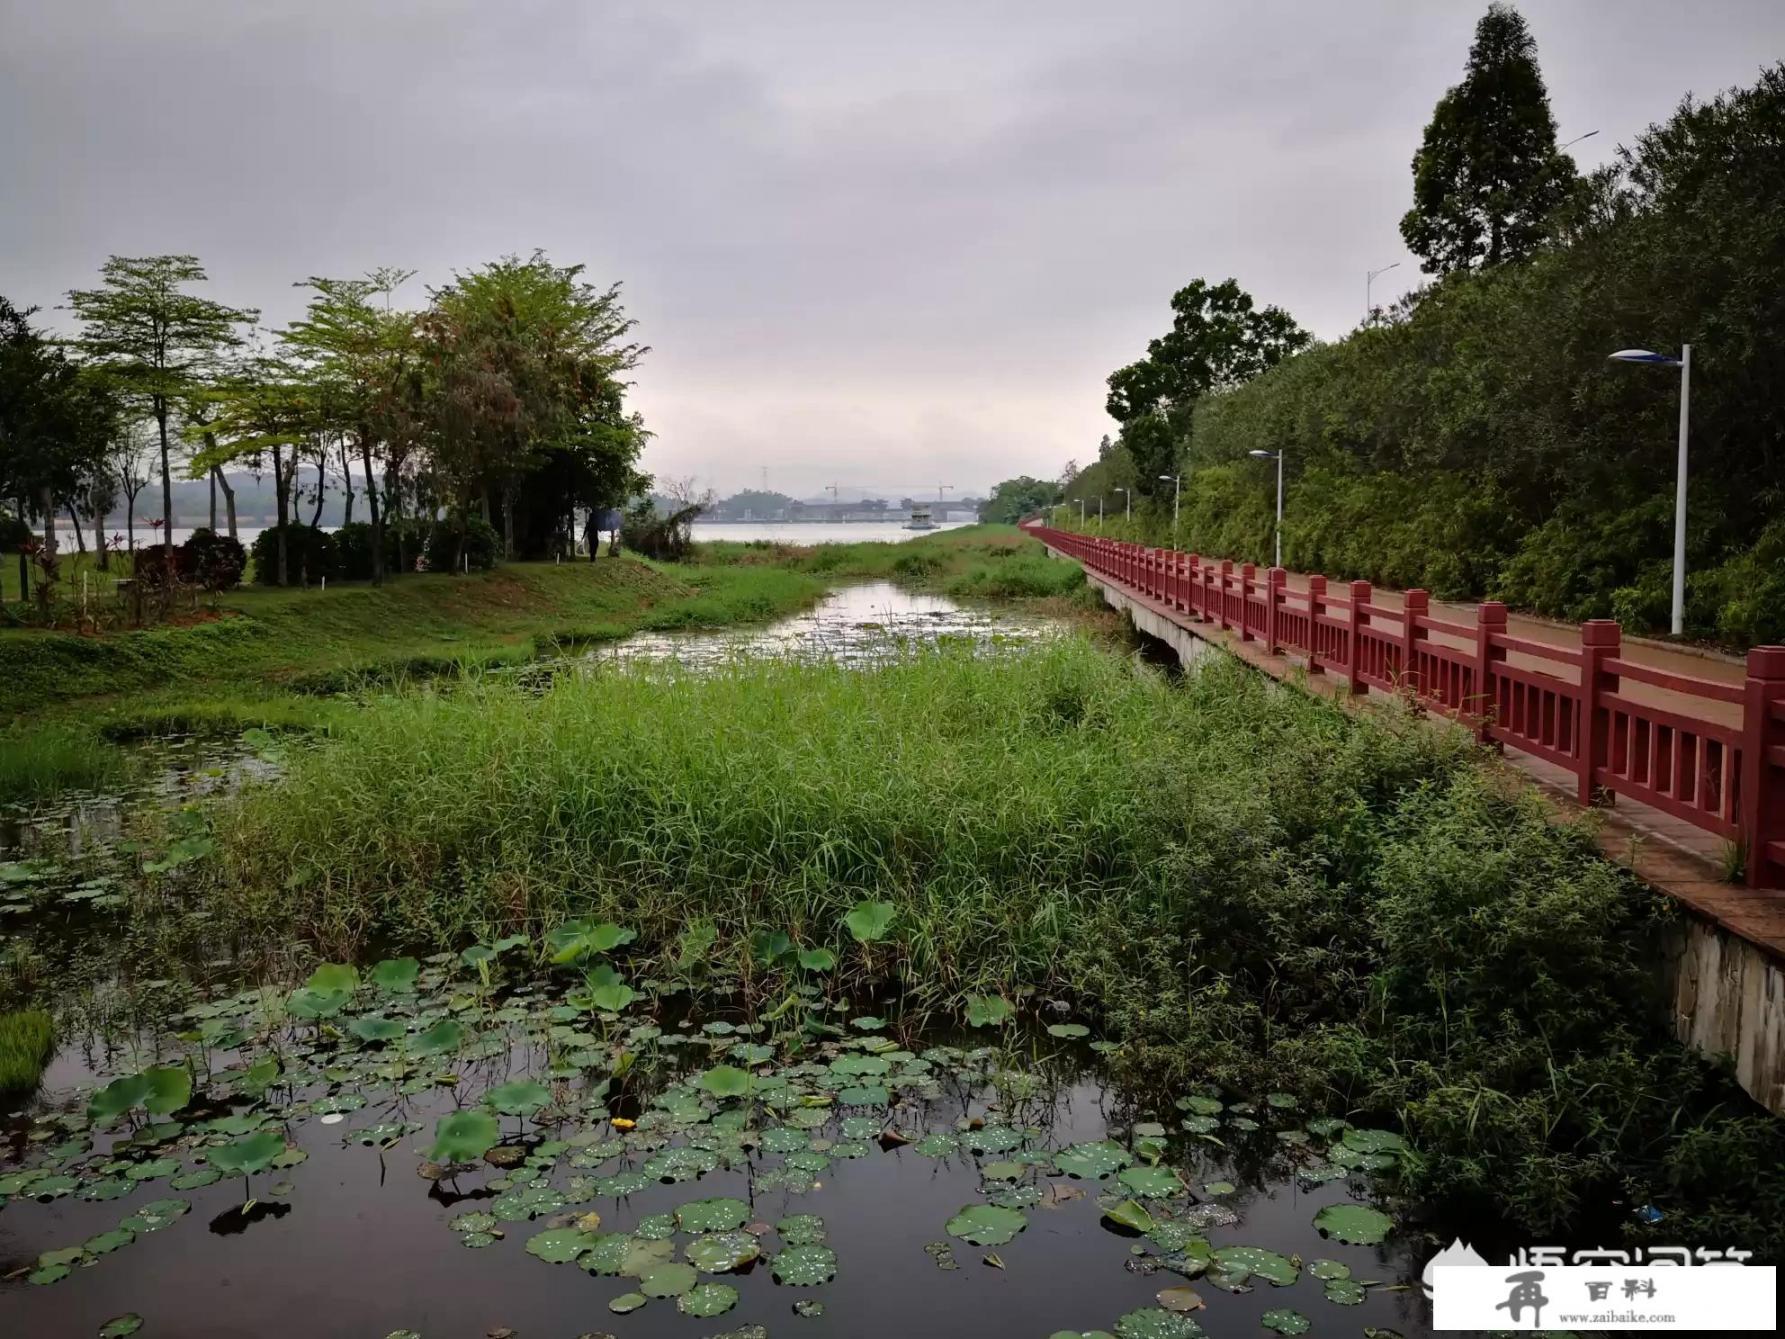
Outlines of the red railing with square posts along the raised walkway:
M 1507 607 L 1474 625 L 1433 618 L 1424 591 L 1401 609 L 1369 582 L 1332 595 L 1324 577 L 1291 591 L 1287 573 L 1119 539 L 1025 528 L 1180 623 L 1214 623 L 1342 675 L 1353 693 L 1405 693 L 1482 739 L 1574 773 L 1582 803 L 1624 794 L 1746 848 L 1753 887 L 1785 887 L 1785 646 L 1748 653 L 1740 684 L 1626 661 L 1617 623 L 1580 628 L 1580 648 L 1517 637 Z

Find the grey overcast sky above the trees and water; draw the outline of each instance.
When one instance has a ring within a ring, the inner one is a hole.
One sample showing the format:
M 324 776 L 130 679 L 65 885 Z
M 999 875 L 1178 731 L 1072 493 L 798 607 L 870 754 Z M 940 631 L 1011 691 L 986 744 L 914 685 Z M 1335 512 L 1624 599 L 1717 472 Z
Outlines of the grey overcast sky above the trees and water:
M 625 282 L 644 466 L 984 491 L 1096 455 L 1105 375 L 1233 275 L 1324 337 L 1485 4 L 0 0 L 0 293 L 193 252 L 214 296 L 544 248 Z M 1785 57 L 1781 0 L 1528 0 L 1612 155 Z M 57 318 L 62 320 L 62 318 Z

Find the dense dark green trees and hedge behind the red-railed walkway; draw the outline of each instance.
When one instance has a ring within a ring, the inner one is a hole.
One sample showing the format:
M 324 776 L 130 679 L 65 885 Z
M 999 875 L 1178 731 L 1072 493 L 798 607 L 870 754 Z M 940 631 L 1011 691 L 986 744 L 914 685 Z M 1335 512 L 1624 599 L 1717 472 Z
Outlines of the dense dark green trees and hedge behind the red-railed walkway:
M 1180 289 L 1108 378 L 1121 427 L 1064 480 L 1075 523 L 1128 487 L 1135 537 L 1267 562 L 1276 473 L 1250 453 L 1282 450 L 1291 566 L 1665 628 L 1678 375 L 1606 355 L 1690 343 L 1687 630 L 1785 637 L 1785 66 L 1582 177 L 1494 5 L 1401 232 L 1432 279 L 1333 343 L 1233 280 Z

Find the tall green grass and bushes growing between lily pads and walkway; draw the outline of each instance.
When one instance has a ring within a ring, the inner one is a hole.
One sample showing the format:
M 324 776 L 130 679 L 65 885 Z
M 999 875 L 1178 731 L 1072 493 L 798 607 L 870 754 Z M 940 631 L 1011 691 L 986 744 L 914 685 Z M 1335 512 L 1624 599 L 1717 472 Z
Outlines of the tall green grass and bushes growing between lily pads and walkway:
M 334 955 L 587 912 L 750 973 L 753 934 L 846 950 L 884 898 L 909 1007 L 1076 1000 L 1150 1078 L 1401 1119 L 1410 1189 L 1533 1232 L 1656 1203 L 1785 1244 L 1780 1125 L 1667 1032 L 1662 903 L 1460 744 L 1228 664 L 1175 689 L 1071 641 L 398 700 L 218 836 L 212 909 Z

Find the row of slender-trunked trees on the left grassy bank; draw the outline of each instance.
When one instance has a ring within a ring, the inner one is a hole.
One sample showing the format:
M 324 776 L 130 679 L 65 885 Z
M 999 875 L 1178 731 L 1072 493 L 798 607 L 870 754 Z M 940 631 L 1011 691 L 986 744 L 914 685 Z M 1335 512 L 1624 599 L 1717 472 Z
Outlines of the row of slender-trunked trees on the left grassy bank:
M 412 271 L 314 277 L 277 332 L 196 293 L 205 279 L 191 255 L 114 255 L 68 293 L 66 339 L 0 298 L 0 539 L 20 548 L 21 584 L 27 548 L 54 566 L 59 514 L 84 546 L 82 518 L 104 525 L 123 498 L 134 528 L 152 478 L 171 532 L 175 470 L 211 480 L 230 537 L 227 470 L 271 475 L 280 586 L 305 462 L 339 470 L 348 507 L 357 475 L 375 582 L 409 566 L 416 521 L 446 518 L 461 553 L 491 527 L 503 555 L 543 557 L 573 545 L 578 514 L 650 484 L 635 470 L 650 434 L 625 402 L 646 348 L 619 286 L 582 266 L 511 255 L 418 307 L 398 296 Z

